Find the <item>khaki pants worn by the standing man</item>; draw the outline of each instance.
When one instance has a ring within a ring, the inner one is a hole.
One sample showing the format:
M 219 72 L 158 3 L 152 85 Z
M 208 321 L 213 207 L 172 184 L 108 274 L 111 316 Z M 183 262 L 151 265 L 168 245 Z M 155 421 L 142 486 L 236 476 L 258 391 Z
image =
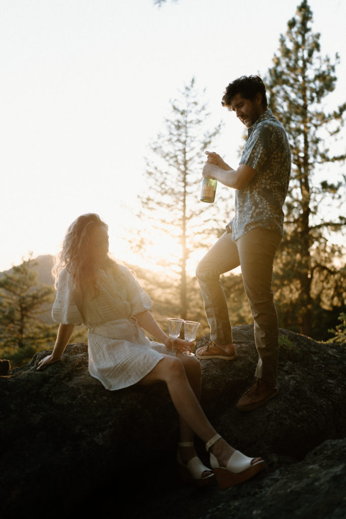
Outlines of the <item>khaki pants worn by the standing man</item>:
M 273 261 L 281 236 L 256 227 L 237 241 L 225 233 L 199 262 L 196 275 L 210 326 L 210 337 L 222 347 L 232 343 L 232 328 L 220 275 L 241 266 L 246 296 L 254 319 L 258 364 L 255 377 L 276 385 L 278 316 L 273 301 Z

